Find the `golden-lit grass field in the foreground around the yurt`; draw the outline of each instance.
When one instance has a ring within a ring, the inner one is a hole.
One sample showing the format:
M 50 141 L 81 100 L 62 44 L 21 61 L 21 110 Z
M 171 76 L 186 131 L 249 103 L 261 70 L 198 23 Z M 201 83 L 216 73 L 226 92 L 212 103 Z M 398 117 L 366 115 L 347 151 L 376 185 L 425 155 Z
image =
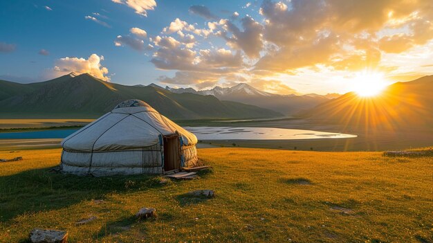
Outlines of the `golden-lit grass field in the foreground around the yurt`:
M 50 172 L 60 152 L 0 152 L 24 158 L 0 163 L 0 242 L 25 241 L 35 227 L 67 230 L 68 242 L 433 241 L 432 157 L 200 149 L 212 172 L 161 185 L 160 177 Z M 185 196 L 199 189 L 216 197 Z M 142 207 L 158 217 L 138 222 Z

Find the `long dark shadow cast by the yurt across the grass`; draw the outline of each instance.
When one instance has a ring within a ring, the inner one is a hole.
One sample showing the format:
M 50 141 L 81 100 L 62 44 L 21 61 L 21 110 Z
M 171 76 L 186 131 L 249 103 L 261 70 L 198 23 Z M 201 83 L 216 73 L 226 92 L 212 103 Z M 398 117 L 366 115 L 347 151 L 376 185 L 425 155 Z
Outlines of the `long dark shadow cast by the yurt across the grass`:
M 65 208 L 80 201 L 104 199 L 116 192 L 124 194 L 163 185 L 149 175 L 78 177 L 51 172 L 53 168 L 26 170 L 0 177 L 0 222 L 21 214 Z

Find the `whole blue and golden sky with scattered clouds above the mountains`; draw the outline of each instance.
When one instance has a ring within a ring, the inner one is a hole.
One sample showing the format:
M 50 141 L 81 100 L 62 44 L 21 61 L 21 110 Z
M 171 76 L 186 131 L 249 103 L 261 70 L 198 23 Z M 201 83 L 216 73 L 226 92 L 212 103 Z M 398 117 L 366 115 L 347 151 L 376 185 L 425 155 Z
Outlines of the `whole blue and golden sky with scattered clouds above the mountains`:
M 0 1 L 0 79 L 346 93 L 433 74 L 428 0 Z

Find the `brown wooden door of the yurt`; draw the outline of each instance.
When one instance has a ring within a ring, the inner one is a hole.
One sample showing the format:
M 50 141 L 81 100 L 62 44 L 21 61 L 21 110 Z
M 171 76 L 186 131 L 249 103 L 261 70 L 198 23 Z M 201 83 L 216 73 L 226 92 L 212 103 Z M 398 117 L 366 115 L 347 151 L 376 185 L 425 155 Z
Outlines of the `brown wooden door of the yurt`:
M 181 168 L 179 136 L 164 136 L 164 171 Z

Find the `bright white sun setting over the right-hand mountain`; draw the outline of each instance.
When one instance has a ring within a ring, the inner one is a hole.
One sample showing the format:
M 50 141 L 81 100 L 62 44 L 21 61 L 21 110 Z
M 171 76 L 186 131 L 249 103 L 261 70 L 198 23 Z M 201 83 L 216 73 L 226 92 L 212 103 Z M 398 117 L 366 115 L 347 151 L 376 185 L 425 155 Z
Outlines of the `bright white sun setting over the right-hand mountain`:
M 356 73 L 355 78 L 351 82 L 351 90 L 362 97 L 377 96 L 388 85 L 382 73 L 367 71 Z

